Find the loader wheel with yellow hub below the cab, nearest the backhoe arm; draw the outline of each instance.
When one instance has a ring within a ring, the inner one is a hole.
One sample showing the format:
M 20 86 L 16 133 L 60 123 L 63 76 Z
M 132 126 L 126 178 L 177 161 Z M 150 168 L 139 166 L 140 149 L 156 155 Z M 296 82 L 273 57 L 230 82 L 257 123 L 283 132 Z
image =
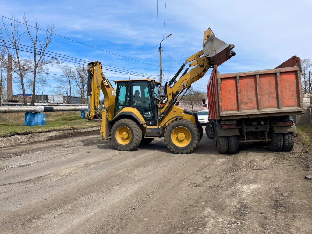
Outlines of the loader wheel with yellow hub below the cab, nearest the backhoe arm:
M 142 131 L 132 119 L 120 119 L 111 129 L 111 138 L 116 149 L 131 151 L 141 143 Z

